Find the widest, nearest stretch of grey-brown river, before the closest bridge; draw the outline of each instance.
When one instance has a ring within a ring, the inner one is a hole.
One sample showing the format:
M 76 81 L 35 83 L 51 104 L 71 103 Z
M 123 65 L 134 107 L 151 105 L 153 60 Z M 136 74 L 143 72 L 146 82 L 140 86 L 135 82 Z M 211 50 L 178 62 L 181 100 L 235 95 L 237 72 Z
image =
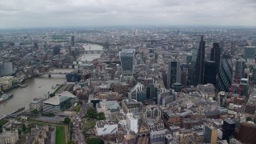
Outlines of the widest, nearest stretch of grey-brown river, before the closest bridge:
M 14 110 L 18 110 L 22 106 L 25 106 L 26 109 L 30 108 L 30 102 L 34 98 L 45 98 L 45 94 L 48 91 L 53 92 L 54 89 L 51 89 L 51 86 L 56 84 L 62 84 L 66 82 L 65 75 L 54 74 L 51 78 L 48 78 L 48 75 L 42 75 L 40 77 L 31 78 L 26 80 L 26 88 L 14 88 L 6 93 L 14 94 L 13 98 L 6 100 L 5 102 L 0 103 L 0 115 L 10 114 Z

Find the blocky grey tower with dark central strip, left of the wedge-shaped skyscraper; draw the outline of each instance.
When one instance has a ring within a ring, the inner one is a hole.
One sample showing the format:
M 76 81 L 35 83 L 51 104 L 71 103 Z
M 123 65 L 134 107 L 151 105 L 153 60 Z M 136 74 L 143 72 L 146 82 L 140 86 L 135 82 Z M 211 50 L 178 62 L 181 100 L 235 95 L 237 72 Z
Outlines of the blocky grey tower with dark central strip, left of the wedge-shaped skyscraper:
M 181 82 L 181 66 L 178 61 L 168 63 L 167 89 L 170 89 L 174 82 Z

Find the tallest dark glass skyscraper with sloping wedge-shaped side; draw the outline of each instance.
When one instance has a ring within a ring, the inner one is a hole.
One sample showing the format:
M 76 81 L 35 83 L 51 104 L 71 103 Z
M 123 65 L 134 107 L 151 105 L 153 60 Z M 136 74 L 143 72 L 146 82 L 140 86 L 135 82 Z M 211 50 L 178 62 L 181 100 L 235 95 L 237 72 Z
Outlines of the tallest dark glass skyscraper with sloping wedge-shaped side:
M 198 84 L 203 84 L 204 82 L 205 47 L 206 41 L 203 41 L 202 36 L 198 36 L 192 48 L 192 59 L 189 71 L 190 85 L 198 86 Z

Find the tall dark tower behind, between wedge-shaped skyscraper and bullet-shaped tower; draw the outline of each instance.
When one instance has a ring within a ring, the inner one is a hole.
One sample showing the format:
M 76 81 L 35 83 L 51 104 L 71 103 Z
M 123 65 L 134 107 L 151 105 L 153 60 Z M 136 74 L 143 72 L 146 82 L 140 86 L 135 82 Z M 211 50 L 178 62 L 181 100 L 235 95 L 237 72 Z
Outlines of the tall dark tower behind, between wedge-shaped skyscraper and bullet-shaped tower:
M 214 42 L 213 48 L 210 50 L 210 61 L 216 62 L 216 68 L 218 71 L 219 62 L 221 60 L 221 47 L 218 42 Z

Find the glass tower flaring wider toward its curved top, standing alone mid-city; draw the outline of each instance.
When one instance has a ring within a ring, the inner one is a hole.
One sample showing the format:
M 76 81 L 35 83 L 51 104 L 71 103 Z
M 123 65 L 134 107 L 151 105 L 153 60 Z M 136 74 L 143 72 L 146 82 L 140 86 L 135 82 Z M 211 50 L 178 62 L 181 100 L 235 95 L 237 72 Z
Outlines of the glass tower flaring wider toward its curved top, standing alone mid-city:
M 119 52 L 122 76 L 133 76 L 134 72 L 134 49 L 122 50 Z

